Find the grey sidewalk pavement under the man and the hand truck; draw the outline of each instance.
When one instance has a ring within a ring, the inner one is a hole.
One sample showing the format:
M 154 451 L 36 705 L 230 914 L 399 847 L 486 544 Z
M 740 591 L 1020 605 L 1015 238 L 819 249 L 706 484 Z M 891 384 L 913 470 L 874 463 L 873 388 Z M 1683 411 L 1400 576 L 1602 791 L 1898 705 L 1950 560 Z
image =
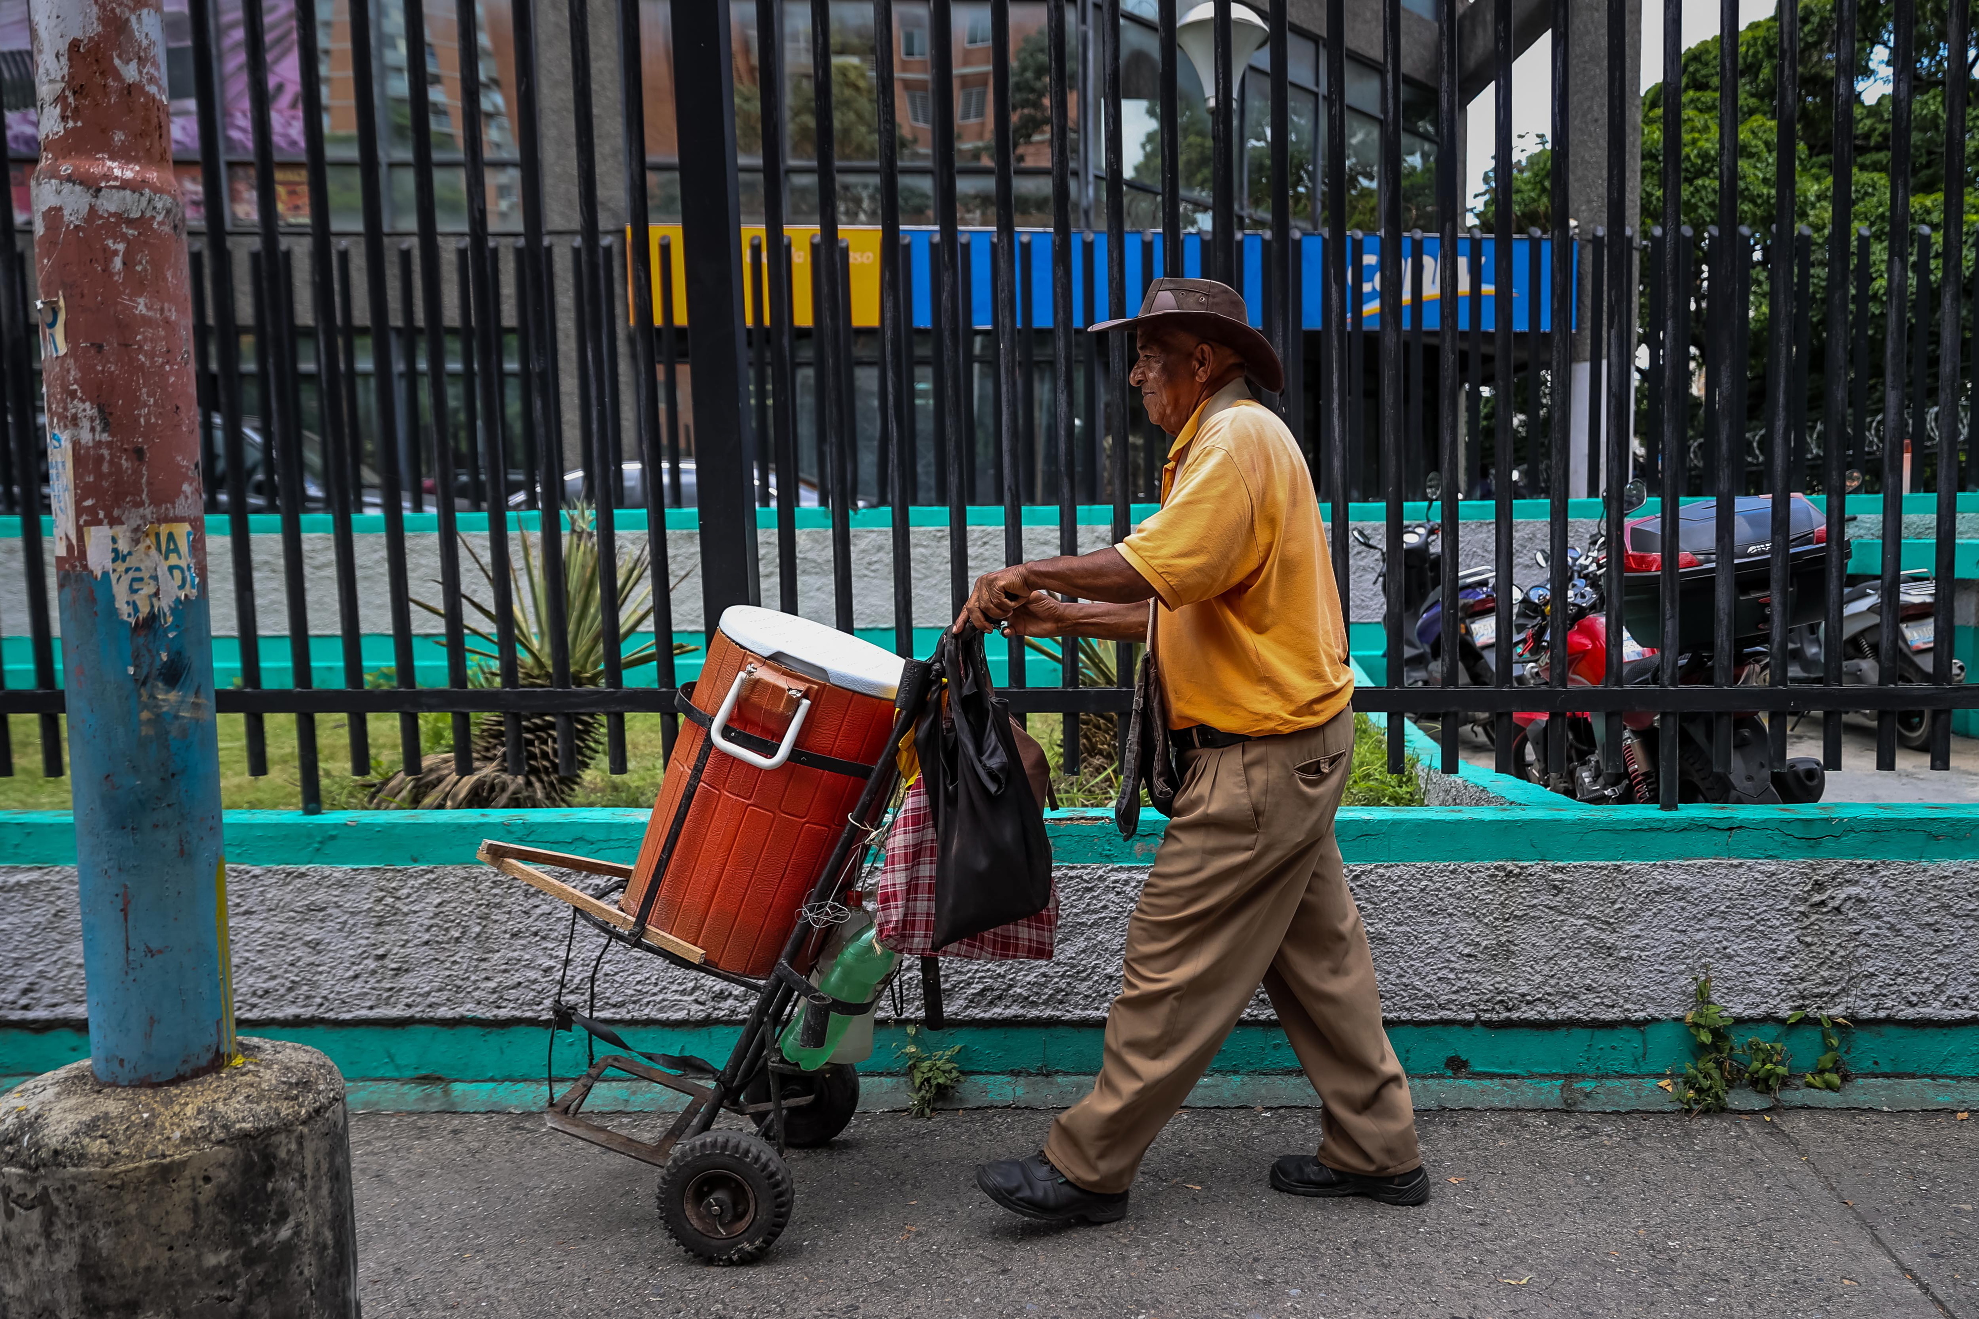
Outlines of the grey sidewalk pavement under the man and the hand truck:
M 653 1168 L 538 1117 L 356 1115 L 364 1317 L 1979 1319 L 1979 1121 L 1951 1113 L 1423 1113 L 1435 1198 L 1399 1210 L 1265 1188 L 1312 1111 L 1191 1109 L 1124 1222 L 1063 1230 L 972 1178 L 1047 1121 L 861 1113 L 792 1153 L 770 1256 L 716 1269 L 665 1236 Z

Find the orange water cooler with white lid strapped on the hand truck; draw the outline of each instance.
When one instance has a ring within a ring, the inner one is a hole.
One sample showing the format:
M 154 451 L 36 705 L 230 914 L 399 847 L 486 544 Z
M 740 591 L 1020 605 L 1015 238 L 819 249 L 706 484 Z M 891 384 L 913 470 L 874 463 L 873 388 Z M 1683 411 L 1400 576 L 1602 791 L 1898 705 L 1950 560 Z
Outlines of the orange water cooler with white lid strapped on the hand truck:
M 887 747 L 900 671 L 823 624 L 724 610 L 619 907 L 768 976 Z

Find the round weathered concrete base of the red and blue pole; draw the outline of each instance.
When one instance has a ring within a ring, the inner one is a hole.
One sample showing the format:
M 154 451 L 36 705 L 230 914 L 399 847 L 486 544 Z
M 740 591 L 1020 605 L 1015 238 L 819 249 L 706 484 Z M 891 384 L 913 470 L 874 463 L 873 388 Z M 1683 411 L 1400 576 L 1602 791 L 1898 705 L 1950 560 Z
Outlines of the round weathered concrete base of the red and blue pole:
M 0 1093 L 0 1315 L 358 1313 L 344 1077 L 317 1050 L 160 1087 Z

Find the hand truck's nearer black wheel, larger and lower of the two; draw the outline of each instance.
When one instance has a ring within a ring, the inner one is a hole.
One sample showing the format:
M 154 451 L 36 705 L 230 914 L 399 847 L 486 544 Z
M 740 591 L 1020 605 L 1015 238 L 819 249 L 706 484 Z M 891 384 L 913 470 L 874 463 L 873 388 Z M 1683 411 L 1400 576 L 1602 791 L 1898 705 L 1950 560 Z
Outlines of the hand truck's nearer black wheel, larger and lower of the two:
M 673 1147 L 659 1174 L 667 1236 L 708 1264 L 750 1264 L 784 1234 L 796 1188 L 758 1137 L 703 1131 Z

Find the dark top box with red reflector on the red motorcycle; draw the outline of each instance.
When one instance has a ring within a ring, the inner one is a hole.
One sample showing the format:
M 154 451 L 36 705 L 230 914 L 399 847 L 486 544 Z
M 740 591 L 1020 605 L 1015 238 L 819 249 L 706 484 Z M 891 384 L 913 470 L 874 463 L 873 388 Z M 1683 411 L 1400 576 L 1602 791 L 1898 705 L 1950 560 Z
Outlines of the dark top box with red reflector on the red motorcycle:
M 1827 523 L 1807 495 L 1787 495 L 1787 626 L 1817 622 L 1827 582 Z M 1643 646 L 1662 642 L 1662 513 L 1623 529 L 1623 622 Z M 1686 503 L 1676 515 L 1676 630 L 1680 648 L 1708 646 L 1716 626 L 1718 501 Z M 1842 545 L 1842 558 L 1848 547 Z M 1773 626 L 1773 497 L 1732 503 L 1732 642 L 1751 644 Z

